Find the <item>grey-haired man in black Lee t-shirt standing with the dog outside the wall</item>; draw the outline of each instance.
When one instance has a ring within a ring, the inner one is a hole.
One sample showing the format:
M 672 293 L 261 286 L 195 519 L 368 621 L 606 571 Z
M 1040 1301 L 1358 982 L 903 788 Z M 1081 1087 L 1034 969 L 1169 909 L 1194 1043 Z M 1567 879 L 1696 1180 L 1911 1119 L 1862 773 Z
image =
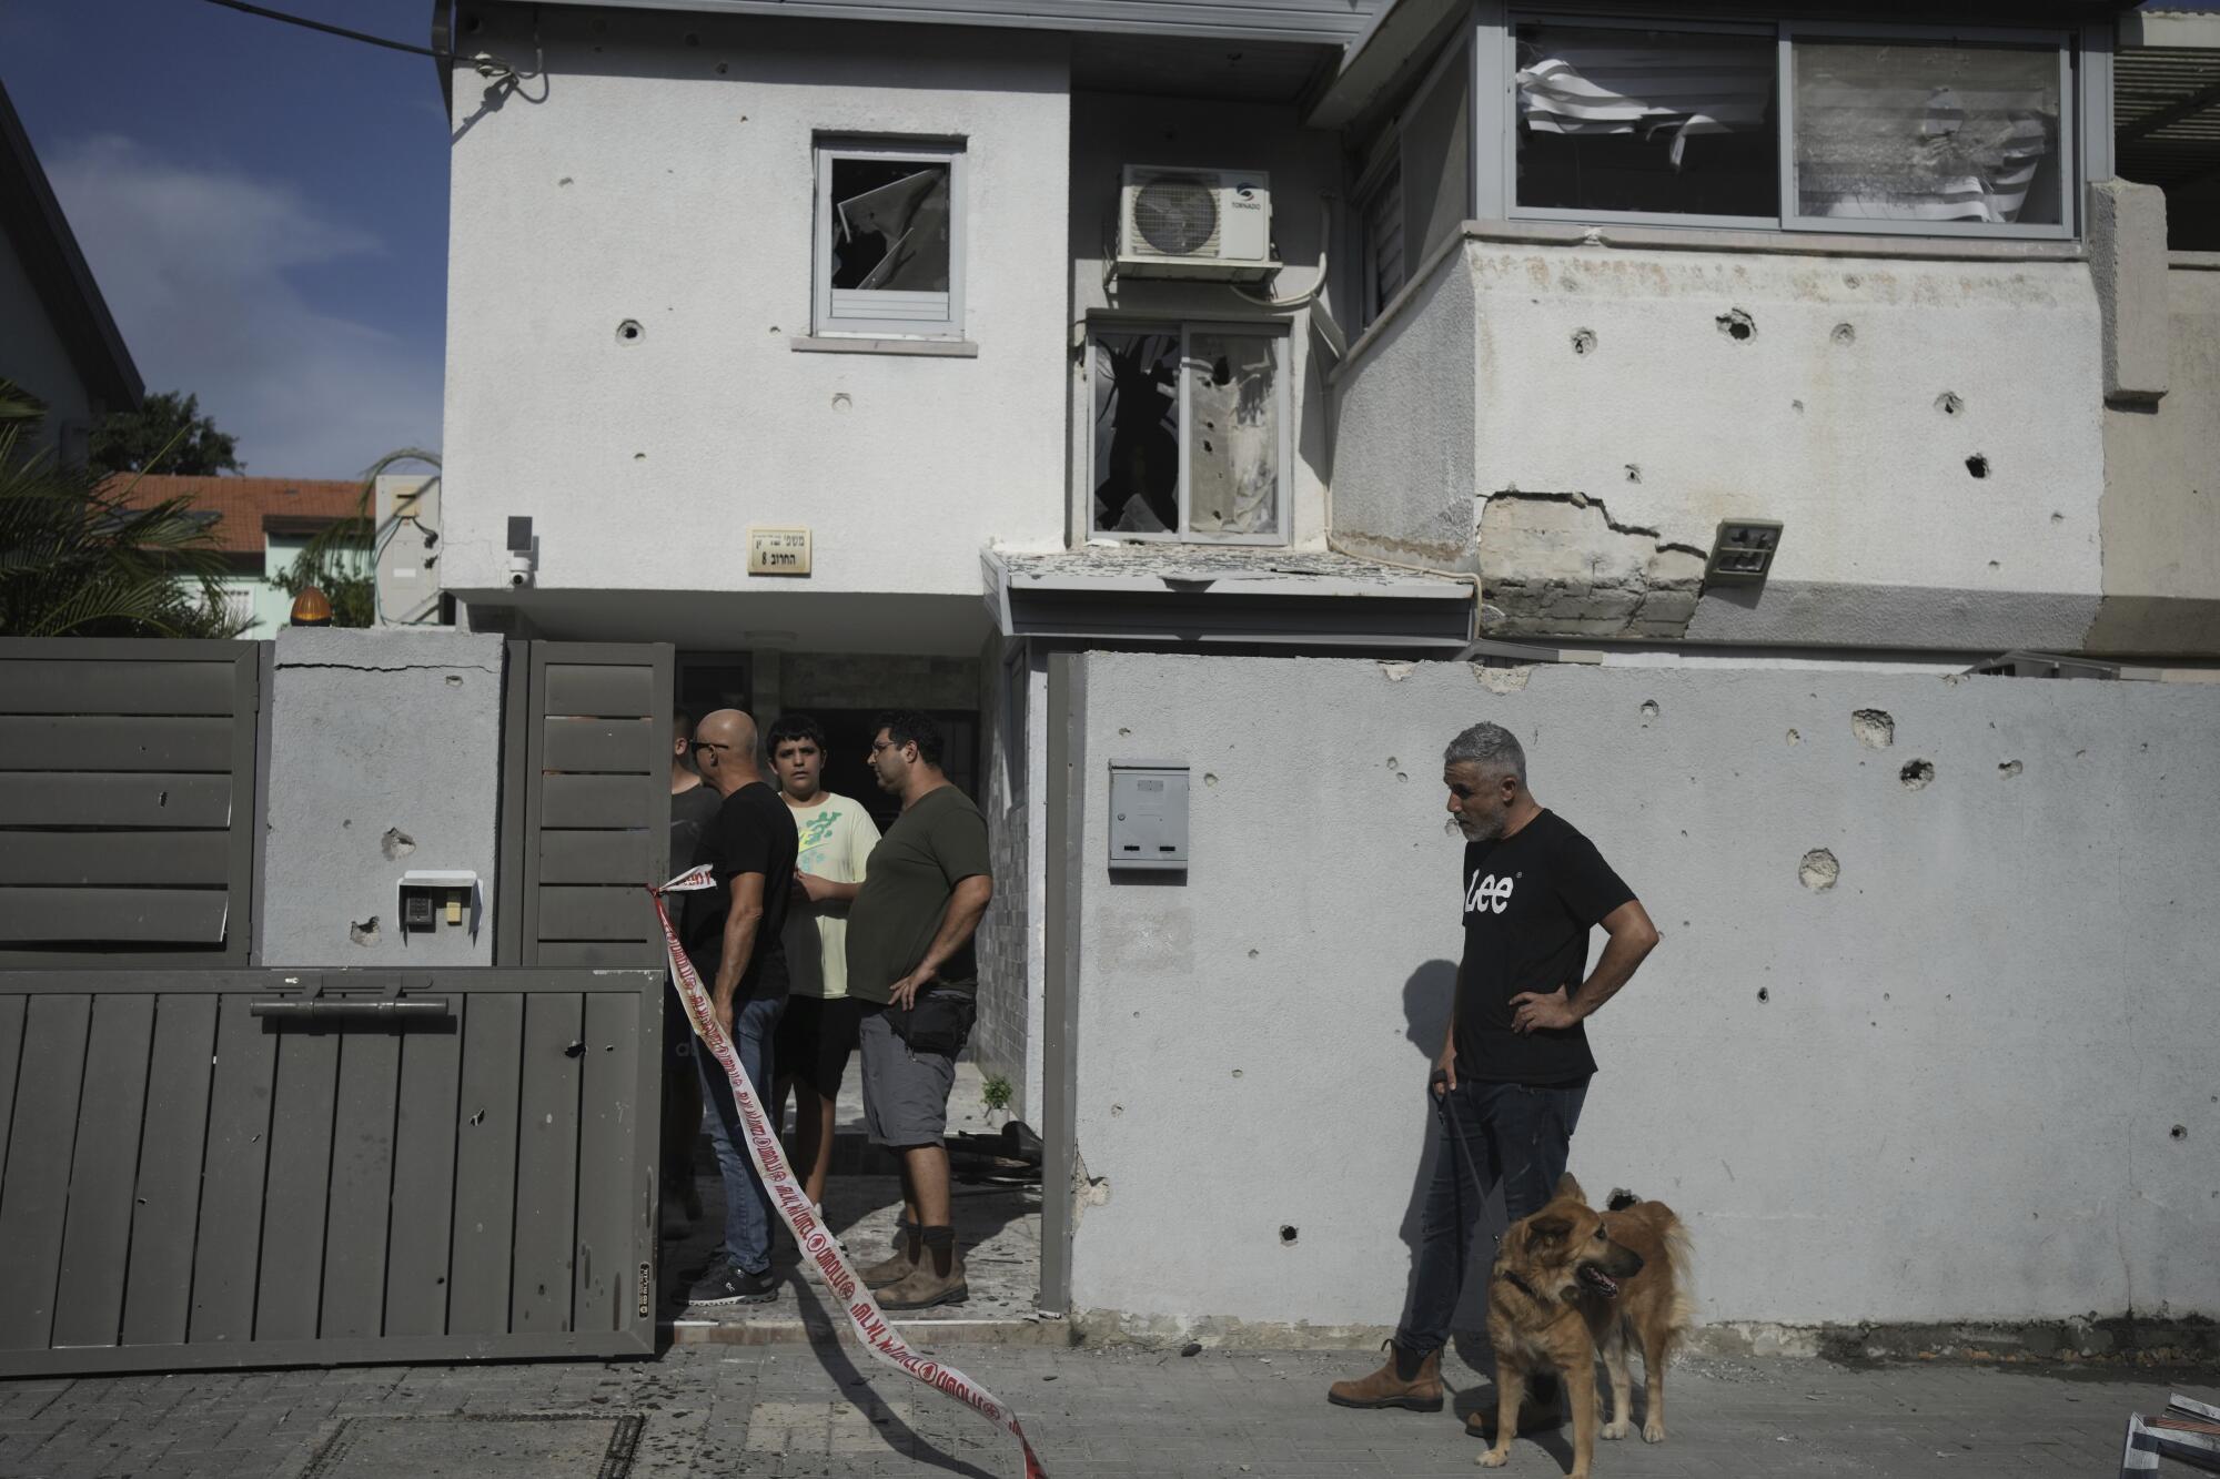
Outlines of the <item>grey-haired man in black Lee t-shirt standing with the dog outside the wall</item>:
M 1465 835 L 1465 957 L 1430 1086 L 1434 1175 L 1392 1355 L 1370 1377 L 1332 1386 L 1328 1401 L 1345 1408 L 1441 1410 L 1441 1348 L 1481 1204 L 1499 1181 L 1510 1221 L 1550 1201 L 1596 1070 L 1581 1024 L 1658 942 L 1596 844 L 1534 802 L 1507 728 L 1474 724 L 1452 740 L 1441 779 Z M 1596 924 L 1607 939 L 1590 973 Z M 1479 1423 L 1474 1412 L 1467 1426 Z

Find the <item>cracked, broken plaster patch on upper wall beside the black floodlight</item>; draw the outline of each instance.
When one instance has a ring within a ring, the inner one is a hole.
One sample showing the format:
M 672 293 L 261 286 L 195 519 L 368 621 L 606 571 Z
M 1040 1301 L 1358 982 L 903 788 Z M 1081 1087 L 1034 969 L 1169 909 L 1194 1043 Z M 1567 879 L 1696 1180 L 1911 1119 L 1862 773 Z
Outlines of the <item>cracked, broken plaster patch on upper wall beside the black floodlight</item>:
M 1492 495 L 1481 506 L 1481 620 L 1490 635 L 1687 635 L 1705 555 L 1618 524 L 1583 493 Z

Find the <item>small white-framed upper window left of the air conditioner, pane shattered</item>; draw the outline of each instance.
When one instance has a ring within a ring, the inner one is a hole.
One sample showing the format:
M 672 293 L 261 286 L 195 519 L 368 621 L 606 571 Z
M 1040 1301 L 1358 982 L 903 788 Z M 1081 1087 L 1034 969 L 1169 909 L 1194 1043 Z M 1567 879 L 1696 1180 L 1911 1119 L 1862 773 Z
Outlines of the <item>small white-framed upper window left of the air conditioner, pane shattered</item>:
M 817 142 L 817 333 L 963 338 L 963 149 Z

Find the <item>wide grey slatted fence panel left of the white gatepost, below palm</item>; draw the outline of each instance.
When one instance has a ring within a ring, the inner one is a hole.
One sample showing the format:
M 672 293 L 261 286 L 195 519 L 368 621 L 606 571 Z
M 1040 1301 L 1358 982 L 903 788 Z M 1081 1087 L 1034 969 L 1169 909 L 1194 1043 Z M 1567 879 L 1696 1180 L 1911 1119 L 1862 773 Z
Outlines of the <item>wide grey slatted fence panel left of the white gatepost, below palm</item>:
M 262 655 L 0 640 L 0 968 L 249 962 Z

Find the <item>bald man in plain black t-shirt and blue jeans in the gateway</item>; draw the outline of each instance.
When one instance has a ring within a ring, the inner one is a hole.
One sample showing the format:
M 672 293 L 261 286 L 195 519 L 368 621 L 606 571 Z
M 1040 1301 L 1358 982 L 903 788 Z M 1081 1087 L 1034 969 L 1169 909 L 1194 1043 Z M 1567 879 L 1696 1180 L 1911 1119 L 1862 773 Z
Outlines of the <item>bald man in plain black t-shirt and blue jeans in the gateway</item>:
M 695 766 L 724 797 L 702 828 L 695 866 L 710 864 L 717 886 L 686 899 L 679 944 L 710 984 L 717 1022 L 757 1093 L 770 1088 L 770 1039 L 786 1006 L 786 899 L 795 884 L 795 813 L 764 784 L 755 762 L 755 720 L 719 708 L 695 726 Z M 770 1193 L 741 1144 L 739 1106 L 724 1068 L 695 1053 L 710 1141 L 724 1175 L 724 1257 L 695 1284 L 690 1304 L 764 1304 L 770 1277 Z

